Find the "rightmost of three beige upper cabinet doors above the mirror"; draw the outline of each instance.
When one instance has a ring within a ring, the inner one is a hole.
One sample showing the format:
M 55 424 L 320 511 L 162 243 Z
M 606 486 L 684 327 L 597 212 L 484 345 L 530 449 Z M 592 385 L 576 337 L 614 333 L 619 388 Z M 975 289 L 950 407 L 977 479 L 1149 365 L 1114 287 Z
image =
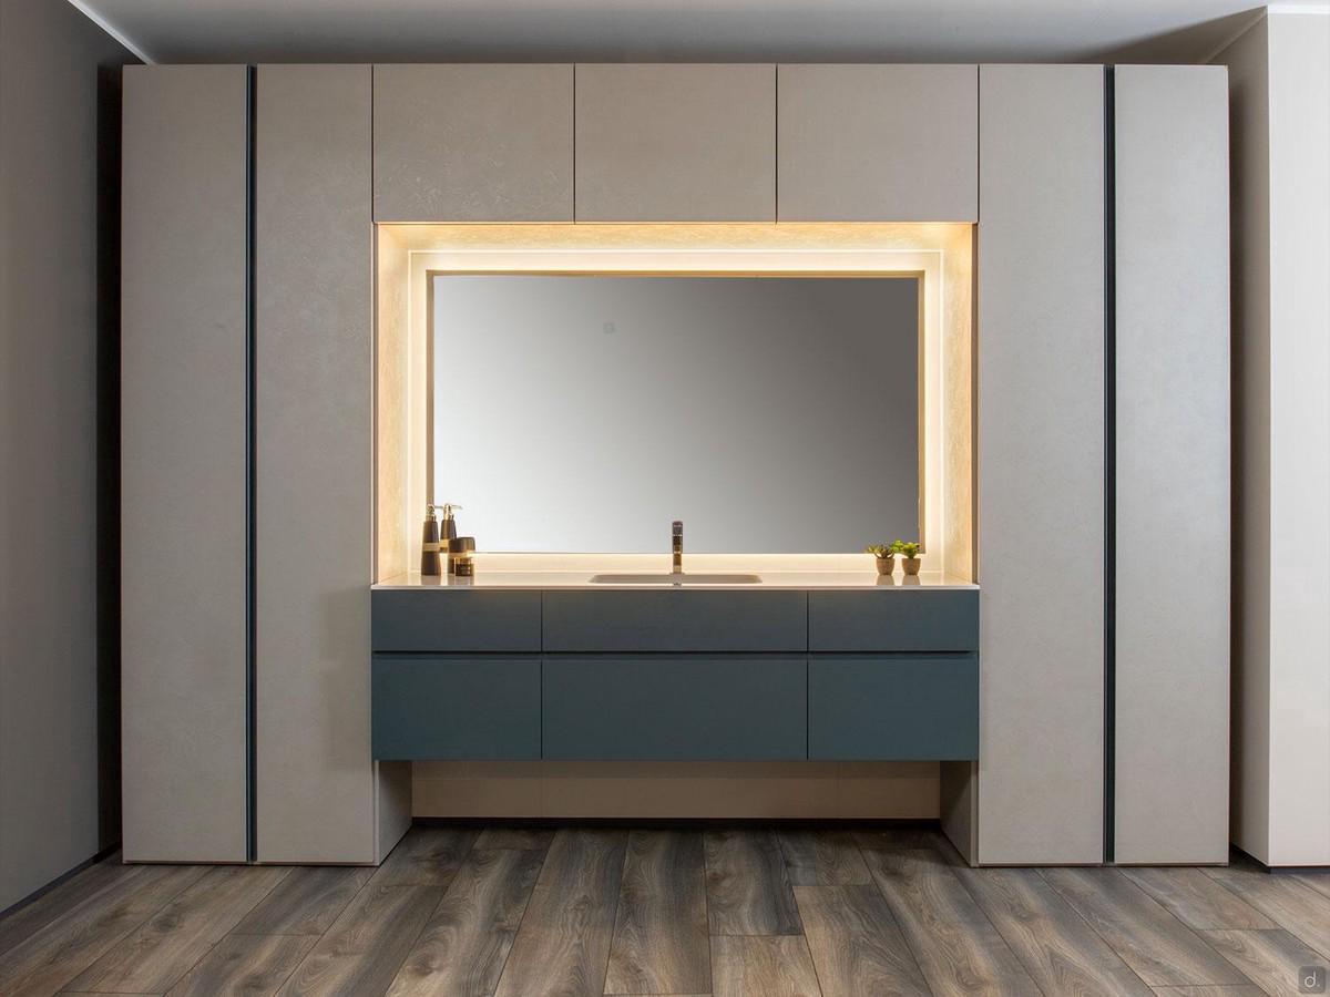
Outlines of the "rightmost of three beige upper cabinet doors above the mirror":
M 978 221 L 978 66 L 778 72 L 779 221 Z

